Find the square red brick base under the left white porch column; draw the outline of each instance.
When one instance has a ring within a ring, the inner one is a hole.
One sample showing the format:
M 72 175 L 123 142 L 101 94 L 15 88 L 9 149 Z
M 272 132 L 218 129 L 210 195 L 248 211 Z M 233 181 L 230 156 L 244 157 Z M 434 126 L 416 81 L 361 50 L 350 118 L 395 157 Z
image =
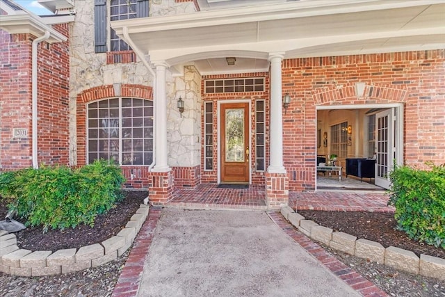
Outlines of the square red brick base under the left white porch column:
M 149 172 L 148 199 L 150 204 L 163 206 L 173 198 L 175 175 L 168 172 Z

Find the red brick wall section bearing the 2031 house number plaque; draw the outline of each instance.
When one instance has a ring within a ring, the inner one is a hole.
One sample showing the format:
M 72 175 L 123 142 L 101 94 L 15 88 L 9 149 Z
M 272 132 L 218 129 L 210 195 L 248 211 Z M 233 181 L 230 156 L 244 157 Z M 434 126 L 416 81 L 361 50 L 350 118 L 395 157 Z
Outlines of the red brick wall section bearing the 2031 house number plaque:
M 68 35 L 67 24 L 54 29 Z M 0 31 L 0 168 L 32 166 L 30 34 Z M 68 164 L 69 42 L 38 45 L 38 163 Z M 26 138 L 13 138 L 13 129 L 27 129 Z

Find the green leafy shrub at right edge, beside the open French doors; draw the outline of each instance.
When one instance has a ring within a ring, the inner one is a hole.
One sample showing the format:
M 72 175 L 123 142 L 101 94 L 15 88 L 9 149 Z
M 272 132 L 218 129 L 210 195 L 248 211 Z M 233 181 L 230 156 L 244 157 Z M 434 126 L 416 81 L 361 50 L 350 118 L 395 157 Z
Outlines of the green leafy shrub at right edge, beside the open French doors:
M 398 228 L 410 238 L 445 248 L 445 166 L 396 167 L 389 175 Z

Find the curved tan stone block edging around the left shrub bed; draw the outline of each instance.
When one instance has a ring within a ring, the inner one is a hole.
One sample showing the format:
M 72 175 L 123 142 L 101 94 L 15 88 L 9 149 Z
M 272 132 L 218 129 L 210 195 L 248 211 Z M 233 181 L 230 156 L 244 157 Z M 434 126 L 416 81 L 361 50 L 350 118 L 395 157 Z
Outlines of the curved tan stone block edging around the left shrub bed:
M 9 275 L 43 276 L 82 271 L 113 261 L 133 244 L 147 219 L 149 205 L 140 204 L 124 229 L 102 243 L 51 252 L 31 252 L 17 246 L 15 234 L 0 230 L 0 271 Z

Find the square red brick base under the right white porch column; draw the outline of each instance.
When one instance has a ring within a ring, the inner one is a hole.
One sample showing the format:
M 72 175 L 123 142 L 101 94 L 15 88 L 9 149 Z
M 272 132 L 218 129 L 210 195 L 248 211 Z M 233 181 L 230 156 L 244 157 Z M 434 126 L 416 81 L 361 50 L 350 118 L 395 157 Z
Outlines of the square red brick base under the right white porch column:
M 286 173 L 266 172 L 266 204 L 270 210 L 289 205 L 289 177 Z

